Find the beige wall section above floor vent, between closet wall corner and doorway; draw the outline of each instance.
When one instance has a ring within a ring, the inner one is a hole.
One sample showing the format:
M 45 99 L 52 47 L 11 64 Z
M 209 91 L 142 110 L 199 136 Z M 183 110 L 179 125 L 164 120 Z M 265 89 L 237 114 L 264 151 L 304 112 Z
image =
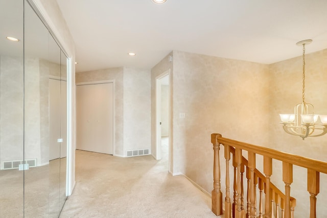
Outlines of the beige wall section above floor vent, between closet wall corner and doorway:
M 124 68 L 124 155 L 150 148 L 150 71 Z

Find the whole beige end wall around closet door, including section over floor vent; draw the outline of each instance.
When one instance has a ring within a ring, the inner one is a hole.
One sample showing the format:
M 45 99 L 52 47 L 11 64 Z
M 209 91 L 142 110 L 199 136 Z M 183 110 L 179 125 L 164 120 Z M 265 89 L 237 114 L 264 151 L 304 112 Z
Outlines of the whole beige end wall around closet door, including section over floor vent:
M 150 71 L 111 68 L 76 74 L 76 83 L 115 81 L 115 155 L 150 148 Z

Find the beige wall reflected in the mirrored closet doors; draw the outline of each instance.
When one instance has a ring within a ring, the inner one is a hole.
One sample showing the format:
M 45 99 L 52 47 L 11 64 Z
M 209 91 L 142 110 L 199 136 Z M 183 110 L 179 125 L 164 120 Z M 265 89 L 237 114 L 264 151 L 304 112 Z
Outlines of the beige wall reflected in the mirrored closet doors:
M 49 163 L 49 77 L 60 78 L 60 64 L 25 59 L 25 159 Z M 0 161 L 23 159 L 23 64 L 0 57 Z M 60 90 L 58 91 L 60 92 Z

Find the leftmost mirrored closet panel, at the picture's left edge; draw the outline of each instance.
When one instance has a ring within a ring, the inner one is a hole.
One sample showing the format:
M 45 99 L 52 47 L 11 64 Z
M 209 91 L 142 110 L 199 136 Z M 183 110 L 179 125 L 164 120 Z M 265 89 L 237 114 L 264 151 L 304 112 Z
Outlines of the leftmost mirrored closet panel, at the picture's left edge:
M 22 0 L 0 1 L 0 217 L 24 215 L 23 14 Z

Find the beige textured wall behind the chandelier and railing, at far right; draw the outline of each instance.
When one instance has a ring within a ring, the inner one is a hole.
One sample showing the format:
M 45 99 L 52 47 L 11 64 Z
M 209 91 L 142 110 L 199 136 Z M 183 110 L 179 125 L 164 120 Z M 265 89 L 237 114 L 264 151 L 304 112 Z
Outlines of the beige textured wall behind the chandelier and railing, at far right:
M 294 106 L 302 102 L 302 57 L 270 64 L 270 118 L 269 147 L 291 154 L 327 161 L 327 136 L 306 138 L 291 136 L 279 124 L 278 114 L 294 113 Z M 327 50 L 306 55 L 306 102 L 315 106 L 316 114 L 327 114 Z M 307 170 L 293 167 L 291 195 L 297 199 L 295 217 L 309 217 L 309 193 L 307 190 Z M 282 190 L 282 163 L 275 161 L 272 181 Z M 327 196 L 327 176 L 320 175 L 320 196 L 317 201 L 317 217 L 327 214 L 327 206 L 322 197 Z M 319 198 L 320 197 L 320 198 Z

